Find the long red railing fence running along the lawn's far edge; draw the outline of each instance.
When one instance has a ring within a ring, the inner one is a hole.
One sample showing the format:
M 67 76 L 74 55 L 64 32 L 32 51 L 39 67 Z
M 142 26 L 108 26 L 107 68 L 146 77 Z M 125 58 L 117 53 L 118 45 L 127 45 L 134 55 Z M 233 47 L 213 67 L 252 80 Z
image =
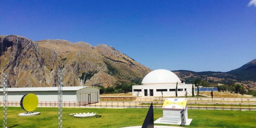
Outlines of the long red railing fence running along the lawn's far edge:
M 2 101 L 0 105 L 2 105 Z M 122 102 L 122 101 L 100 101 L 98 103 L 93 104 L 86 104 L 81 102 L 74 102 L 74 101 L 65 101 L 62 103 L 63 107 L 77 107 L 77 108 L 149 108 L 151 102 Z M 163 102 L 153 102 L 154 108 L 162 108 Z M 47 101 L 40 101 L 38 106 L 45 106 L 45 107 L 55 107 L 58 105 L 58 102 L 47 102 Z M 20 106 L 19 101 L 8 101 L 8 106 Z M 204 103 L 204 102 L 188 102 L 187 103 L 188 109 L 206 109 L 206 110 L 256 110 L 256 103 Z

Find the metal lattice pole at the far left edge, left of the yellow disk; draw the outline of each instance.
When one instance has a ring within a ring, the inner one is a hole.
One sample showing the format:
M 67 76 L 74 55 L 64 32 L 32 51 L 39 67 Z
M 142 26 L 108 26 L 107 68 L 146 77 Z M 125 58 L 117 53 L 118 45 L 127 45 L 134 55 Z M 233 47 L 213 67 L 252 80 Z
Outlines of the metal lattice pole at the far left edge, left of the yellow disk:
M 3 73 L 3 128 L 7 128 L 7 73 Z

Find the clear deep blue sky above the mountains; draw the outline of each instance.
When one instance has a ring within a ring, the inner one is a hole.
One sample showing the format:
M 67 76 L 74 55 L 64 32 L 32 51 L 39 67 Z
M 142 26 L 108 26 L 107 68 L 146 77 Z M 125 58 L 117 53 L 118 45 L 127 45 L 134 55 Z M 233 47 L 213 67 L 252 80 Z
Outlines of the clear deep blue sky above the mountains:
M 151 69 L 230 71 L 256 59 L 256 0 L 2 1 L 0 35 L 115 47 Z

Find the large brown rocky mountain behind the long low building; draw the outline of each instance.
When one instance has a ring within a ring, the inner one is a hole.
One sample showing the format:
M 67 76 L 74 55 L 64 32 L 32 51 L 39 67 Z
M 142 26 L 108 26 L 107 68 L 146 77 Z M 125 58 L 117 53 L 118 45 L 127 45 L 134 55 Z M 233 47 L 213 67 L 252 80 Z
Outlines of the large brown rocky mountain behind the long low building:
M 115 48 L 66 40 L 31 41 L 17 35 L 0 36 L 0 77 L 8 73 L 11 87 L 57 85 L 63 68 L 64 86 L 112 86 L 136 82 L 151 71 Z M 3 80 L 0 80 L 2 85 Z

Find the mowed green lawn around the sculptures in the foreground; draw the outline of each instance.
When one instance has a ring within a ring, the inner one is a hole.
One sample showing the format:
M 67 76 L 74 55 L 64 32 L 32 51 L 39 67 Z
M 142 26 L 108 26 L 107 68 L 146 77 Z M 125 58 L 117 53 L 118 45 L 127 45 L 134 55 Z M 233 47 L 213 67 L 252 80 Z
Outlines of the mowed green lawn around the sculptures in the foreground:
M 2 107 L 0 107 L 2 110 Z M 63 128 L 120 128 L 141 126 L 148 109 L 95 109 L 63 108 Z M 8 107 L 8 127 L 13 128 L 56 128 L 57 108 L 37 108 L 41 115 L 18 117 L 24 112 L 20 107 Z M 96 112 L 101 118 L 74 118 L 70 113 Z M 0 112 L 2 120 L 2 111 Z M 256 111 L 231 110 L 188 110 L 188 117 L 193 118 L 187 128 L 255 128 Z M 162 116 L 162 109 L 154 109 L 154 120 Z M 160 125 L 160 124 L 155 124 Z M 177 126 L 179 125 L 170 125 Z M 2 127 L 2 123 L 0 124 Z

